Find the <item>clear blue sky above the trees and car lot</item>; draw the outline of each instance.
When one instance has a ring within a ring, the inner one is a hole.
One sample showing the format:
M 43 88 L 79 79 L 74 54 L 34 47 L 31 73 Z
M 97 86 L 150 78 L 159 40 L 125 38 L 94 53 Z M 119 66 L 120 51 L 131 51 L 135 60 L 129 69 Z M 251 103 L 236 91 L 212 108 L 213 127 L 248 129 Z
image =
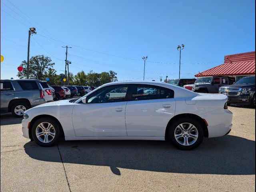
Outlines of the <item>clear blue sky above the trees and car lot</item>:
M 44 54 L 64 73 L 113 70 L 118 81 L 181 78 L 222 64 L 224 55 L 255 51 L 254 0 L 1 0 L 1 79 L 18 78 L 17 67 Z

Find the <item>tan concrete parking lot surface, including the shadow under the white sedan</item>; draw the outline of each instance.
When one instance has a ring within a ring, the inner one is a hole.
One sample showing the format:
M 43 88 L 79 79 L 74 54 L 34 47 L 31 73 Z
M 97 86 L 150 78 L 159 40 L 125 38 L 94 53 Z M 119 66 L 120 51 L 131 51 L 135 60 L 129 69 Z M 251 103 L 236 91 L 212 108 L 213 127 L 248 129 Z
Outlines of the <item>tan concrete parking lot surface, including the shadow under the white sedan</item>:
M 255 109 L 229 107 L 230 134 L 192 151 L 164 141 L 62 141 L 43 148 L 1 114 L 3 191 L 255 191 Z

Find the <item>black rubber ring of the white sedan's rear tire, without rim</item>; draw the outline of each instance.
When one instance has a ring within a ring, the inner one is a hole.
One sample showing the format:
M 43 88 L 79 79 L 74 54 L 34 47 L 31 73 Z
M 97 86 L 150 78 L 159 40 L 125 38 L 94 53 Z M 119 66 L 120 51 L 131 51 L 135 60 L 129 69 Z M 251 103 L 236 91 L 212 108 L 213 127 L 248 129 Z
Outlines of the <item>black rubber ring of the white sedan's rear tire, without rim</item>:
M 174 137 L 174 131 L 176 129 L 176 127 L 179 125 L 179 124 L 182 124 L 182 123 L 191 123 L 193 124 L 197 130 L 198 130 L 198 139 L 196 140 L 196 142 L 190 146 L 183 146 L 181 144 L 179 144 L 175 137 Z M 170 141 L 172 142 L 172 144 L 174 144 L 174 146 L 176 148 L 179 148 L 181 150 L 192 150 L 192 149 L 195 149 L 197 148 L 203 141 L 204 139 L 204 130 L 202 128 L 202 125 L 200 124 L 200 122 L 198 122 L 196 119 L 194 118 L 180 118 L 178 120 L 176 120 L 175 122 L 173 122 L 170 127 L 169 127 L 169 130 L 168 130 L 168 138 L 170 139 Z

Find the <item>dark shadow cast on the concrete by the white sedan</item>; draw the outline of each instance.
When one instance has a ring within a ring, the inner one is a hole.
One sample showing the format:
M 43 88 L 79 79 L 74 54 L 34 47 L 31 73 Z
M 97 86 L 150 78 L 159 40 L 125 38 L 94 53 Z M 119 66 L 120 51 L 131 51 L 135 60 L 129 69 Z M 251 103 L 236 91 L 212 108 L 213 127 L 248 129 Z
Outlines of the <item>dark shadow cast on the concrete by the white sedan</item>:
M 58 144 L 61 158 L 53 158 L 50 148 L 30 148 L 24 145 L 31 158 L 72 164 L 109 166 L 121 175 L 118 168 L 155 172 L 189 174 L 255 174 L 255 141 L 226 135 L 206 138 L 191 151 L 174 148 L 165 141 L 63 141 Z M 58 152 L 58 150 L 56 150 Z

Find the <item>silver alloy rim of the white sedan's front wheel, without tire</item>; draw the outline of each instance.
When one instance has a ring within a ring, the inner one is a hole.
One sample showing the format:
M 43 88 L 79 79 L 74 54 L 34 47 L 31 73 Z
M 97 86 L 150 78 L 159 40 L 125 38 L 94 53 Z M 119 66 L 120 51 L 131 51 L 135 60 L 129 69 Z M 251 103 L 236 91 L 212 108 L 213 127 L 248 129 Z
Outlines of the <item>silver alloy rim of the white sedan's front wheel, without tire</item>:
M 55 128 L 49 122 L 42 122 L 36 127 L 36 137 L 42 143 L 50 143 L 55 137 Z

